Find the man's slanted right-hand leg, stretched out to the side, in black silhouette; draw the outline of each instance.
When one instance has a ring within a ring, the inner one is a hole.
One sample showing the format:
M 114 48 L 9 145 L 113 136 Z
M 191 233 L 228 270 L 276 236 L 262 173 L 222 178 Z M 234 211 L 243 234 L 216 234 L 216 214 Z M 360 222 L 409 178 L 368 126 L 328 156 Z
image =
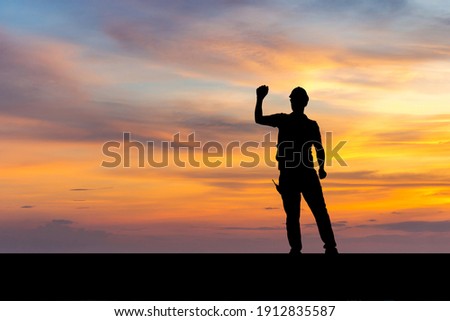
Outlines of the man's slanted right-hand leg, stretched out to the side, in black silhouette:
M 319 177 L 315 171 L 306 175 L 302 193 L 316 219 L 320 238 L 324 243 L 324 248 L 328 253 L 335 252 L 336 241 L 334 239 L 333 228 L 331 227 L 330 216 L 328 215 L 325 199 L 323 197 L 322 186 L 320 185 Z

